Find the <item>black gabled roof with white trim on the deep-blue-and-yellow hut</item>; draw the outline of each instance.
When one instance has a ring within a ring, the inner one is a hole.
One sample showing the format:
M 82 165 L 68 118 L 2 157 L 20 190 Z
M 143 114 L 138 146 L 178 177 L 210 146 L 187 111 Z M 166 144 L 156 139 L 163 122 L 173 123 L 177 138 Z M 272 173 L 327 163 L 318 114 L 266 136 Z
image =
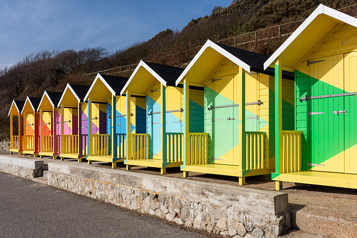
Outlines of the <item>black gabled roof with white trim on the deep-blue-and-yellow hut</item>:
M 90 86 L 87 94 L 85 95 L 84 99 L 85 100 L 88 99 L 89 92 L 93 89 L 97 80 L 101 80 L 113 95 L 120 95 L 120 90 L 122 90 L 122 88 L 128 82 L 128 79 L 129 78 L 127 77 L 112 76 L 112 75 L 98 73 L 92 85 Z

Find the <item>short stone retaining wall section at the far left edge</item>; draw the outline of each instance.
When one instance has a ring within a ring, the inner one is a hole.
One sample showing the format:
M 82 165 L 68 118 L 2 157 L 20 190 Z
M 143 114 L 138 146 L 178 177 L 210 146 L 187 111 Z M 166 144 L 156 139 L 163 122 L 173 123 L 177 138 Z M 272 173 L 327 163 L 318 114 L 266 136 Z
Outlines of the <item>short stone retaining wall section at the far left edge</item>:
M 0 155 L 0 172 L 9 173 L 25 179 L 41 177 L 44 161 L 26 159 L 13 155 Z

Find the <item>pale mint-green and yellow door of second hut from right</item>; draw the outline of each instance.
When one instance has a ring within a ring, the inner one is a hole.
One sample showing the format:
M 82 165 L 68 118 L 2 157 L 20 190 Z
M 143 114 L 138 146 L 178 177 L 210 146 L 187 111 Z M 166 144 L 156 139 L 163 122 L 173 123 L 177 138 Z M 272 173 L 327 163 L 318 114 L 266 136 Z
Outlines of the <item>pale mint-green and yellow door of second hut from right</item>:
M 214 164 L 233 165 L 234 117 L 233 76 L 228 75 L 212 79 L 212 162 Z M 223 107 L 222 107 L 223 106 Z M 228 106 L 228 107 L 225 107 Z M 238 136 L 238 134 L 237 134 Z

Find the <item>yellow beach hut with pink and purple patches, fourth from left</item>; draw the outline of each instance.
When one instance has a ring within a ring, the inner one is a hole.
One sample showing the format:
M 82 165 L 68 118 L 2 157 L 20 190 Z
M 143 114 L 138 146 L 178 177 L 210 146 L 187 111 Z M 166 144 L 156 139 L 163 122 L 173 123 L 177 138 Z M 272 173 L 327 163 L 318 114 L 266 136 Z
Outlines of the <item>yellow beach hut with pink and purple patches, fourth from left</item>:
M 88 144 L 88 103 L 84 97 L 89 86 L 67 84 L 57 108 L 56 135 L 59 136 L 61 160 L 77 159 L 78 163 L 86 158 Z

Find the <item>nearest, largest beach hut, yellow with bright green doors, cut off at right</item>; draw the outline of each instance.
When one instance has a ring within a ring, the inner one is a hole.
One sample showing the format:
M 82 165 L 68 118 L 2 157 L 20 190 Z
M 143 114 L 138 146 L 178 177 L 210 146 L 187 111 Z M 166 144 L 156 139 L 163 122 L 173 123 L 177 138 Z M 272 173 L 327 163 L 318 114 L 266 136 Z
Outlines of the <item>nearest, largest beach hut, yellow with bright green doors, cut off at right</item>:
M 275 67 L 275 173 L 282 181 L 357 188 L 357 19 L 324 5 L 264 63 Z M 295 72 L 294 130 L 284 130 L 281 71 Z

